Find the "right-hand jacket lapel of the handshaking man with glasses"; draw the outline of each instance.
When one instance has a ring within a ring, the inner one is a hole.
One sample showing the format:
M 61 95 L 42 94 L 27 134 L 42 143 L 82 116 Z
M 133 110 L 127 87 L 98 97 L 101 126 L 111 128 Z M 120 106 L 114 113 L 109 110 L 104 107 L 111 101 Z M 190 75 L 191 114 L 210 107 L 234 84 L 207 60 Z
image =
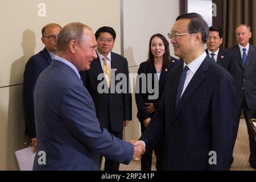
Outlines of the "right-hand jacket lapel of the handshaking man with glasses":
M 207 56 L 197 69 L 195 75 L 192 77 L 183 95 L 181 96 L 179 104 L 176 107 L 174 120 L 176 119 L 177 115 L 179 115 L 180 111 L 183 109 L 184 105 L 187 103 L 192 94 L 195 93 L 195 90 L 198 88 L 201 82 L 205 79 L 206 76 L 204 72 L 209 69 L 210 61 L 212 60 L 210 60 Z M 174 120 L 172 120 L 172 122 Z

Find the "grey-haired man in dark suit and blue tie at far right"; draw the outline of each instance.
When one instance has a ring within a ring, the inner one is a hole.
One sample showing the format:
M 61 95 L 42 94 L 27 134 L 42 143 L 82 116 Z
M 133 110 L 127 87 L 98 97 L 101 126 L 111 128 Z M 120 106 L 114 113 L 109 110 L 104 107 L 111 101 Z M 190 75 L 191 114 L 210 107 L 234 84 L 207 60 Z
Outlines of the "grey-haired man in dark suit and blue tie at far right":
M 249 163 L 251 167 L 256 168 L 256 142 L 250 125 L 250 119 L 256 117 L 256 47 L 249 44 L 251 28 L 246 24 L 237 26 L 236 35 L 238 45 L 227 49 L 233 55 L 237 65 L 235 75 L 237 82 L 238 118 L 234 142 L 236 142 L 240 114 L 243 109 L 250 141 L 251 154 Z

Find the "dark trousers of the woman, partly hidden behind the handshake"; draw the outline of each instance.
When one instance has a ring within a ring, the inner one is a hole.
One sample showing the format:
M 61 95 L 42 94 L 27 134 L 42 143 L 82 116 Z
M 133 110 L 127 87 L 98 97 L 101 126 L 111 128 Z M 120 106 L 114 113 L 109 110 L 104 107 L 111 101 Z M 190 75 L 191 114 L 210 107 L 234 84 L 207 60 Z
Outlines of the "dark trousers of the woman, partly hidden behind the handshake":
M 146 128 L 144 127 L 143 123 L 141 122 L 141 133 Z M 157 143 L 152 150 L 146 151 L 141 156 L 141 171 L 151 171 L 151 165 L 152 165 L 152 152 L 155 152 L 156 156 L 156 170 L 157 171 L 163 171 L 164 168 L 164 141 L 160 141 Z

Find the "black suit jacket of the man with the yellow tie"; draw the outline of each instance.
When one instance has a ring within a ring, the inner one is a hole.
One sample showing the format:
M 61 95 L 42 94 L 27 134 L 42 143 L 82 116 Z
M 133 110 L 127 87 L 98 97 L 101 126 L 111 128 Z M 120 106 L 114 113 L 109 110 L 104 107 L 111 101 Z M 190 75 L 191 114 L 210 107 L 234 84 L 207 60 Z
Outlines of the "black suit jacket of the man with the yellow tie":
M 115 76 L 118 73 L 125 73 L 126 78 L 129 78 L 128 62 L 125 57 L 111 52 L 111 68 L 114 69 Z M 108 129 L 110 125 L 112 131 L 122 132 L 123 121 L 131 120 L 131 93 L 127 92 L 127 90 L 126 93 L 99 93 L 97 87 L 102 80 L 97 80 L 97 77 L 100 73 L 103 73 L 103 70 L 100 59 L 97 57 L 97 59 L 92 61 L 89 71 L 80 72 L 80 75 L 93 98 L 96 115 L 101 127 Z M 120 81 L 115 80 L 114 86 L 118 82 Z

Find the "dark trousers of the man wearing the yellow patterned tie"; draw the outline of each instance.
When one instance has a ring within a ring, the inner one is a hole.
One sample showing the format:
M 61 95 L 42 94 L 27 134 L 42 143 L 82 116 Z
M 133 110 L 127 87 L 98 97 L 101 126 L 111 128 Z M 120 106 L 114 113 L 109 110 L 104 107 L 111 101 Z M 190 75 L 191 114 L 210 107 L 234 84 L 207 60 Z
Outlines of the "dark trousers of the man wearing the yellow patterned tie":
M 111 127 L 108 129 L 109 133 L 114 135 L 115 137 L 119 139 L 123 139 L 123 133 L 122 132 L 114 132 L 111 130 Z M 102 155 L 100 155 L 100 167 L 102 162 Z M 104 171 L 118 171 L 119 170 L 120 163 L 115 162 L 114 160 L 110 160 L 108 158 L 105 158 L 105 165 L 104 165 Z

